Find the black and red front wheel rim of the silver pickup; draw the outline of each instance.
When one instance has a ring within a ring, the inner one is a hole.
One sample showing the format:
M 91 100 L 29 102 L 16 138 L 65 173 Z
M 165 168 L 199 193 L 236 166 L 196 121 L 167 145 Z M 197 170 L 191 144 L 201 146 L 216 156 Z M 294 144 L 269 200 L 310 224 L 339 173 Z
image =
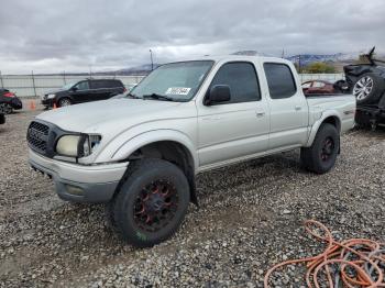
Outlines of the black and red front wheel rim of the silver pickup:
M 178 193 L 167 180 L 155 180 L 139 192 L 134 203 L 134 221 L 143 231 L 157 232 L 167 226 L 178 209 Z

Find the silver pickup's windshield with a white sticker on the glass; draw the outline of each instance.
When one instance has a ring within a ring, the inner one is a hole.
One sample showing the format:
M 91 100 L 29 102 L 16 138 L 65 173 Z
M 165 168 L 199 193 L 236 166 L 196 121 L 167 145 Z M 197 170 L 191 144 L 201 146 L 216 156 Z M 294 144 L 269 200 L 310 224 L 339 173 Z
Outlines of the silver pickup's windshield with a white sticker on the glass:
M 154 100 L 189 101 L 212 64 L 212 60 L 194 60 L 163 65 L 133 88 L 131 95 L 144 99 L 153 96 Z

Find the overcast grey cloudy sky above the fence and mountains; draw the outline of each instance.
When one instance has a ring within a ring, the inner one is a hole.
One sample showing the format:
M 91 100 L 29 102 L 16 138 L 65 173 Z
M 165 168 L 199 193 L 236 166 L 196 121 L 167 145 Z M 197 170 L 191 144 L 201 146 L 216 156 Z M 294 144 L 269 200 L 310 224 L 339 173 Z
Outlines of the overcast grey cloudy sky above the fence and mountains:
M 385 51 L 384 0 L 3 0 L 2 74 L 112 70 L 206 54 Z

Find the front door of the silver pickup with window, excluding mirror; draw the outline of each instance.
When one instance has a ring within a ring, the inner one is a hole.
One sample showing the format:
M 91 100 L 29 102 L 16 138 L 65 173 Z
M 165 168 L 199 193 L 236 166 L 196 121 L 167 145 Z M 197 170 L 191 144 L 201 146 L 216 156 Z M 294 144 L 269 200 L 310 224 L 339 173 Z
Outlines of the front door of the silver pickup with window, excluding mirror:
M 261 98 L 254 64 L 223 64 L 208 91 L 215 85 L 229 86 L 231 100 L 198 109 L 201 167 L 264 152 L 268 142 L 268 108 Z

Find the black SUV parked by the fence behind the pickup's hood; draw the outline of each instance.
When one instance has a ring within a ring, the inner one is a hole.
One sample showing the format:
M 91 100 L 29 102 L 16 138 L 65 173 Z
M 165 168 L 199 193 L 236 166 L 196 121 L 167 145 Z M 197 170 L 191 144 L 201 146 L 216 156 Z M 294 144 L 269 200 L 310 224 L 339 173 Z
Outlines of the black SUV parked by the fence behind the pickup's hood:
M 85 79 L 67 84 L 61 89 L 48 91 L 42 97 L 46 108 L 66 107 L 98 100 L 106 100 L 125 92 L 124 85 L 119 79 Z

